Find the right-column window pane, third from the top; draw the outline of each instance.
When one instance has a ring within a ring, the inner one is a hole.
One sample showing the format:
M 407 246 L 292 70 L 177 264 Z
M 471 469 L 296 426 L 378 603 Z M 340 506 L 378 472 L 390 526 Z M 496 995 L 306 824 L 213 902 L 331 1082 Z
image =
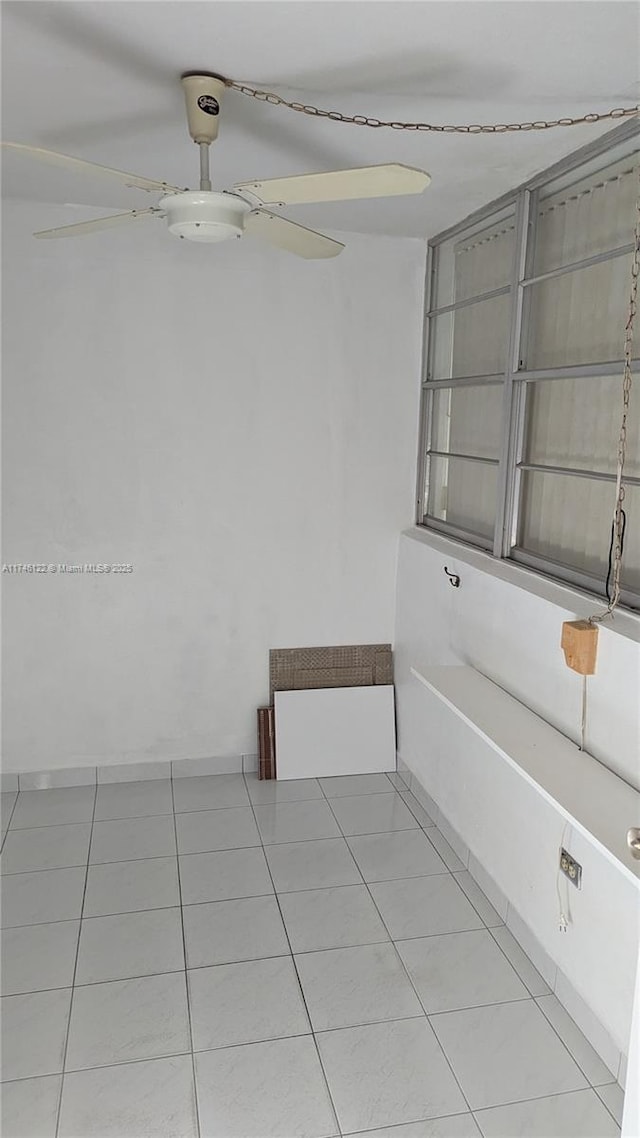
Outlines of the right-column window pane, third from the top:
M 525 462 L 615 473 L 622 374 L 527 384 Z M 627 417 L 625 472 L 640 477 L 640 414 Z

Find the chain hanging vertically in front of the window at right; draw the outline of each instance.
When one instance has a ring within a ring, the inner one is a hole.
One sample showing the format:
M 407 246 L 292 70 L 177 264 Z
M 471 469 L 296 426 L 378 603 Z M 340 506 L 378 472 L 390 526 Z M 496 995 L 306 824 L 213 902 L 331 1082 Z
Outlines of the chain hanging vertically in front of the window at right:
M 640 171 L 639 171 L 640 173 Z M 612 547 L 609 550 L 609 571 L 607 574 L 607 608 L 589 617 L 591 624 L 612 617 L 620 604 L 622 553 L 624 549 L 624 530 L 626 514 L 624 511 L 624 462 L 626 459 L 626 420 L 631 398 L 631 349 L 633 344 L 633 323 L 638 305 L 638 273 L 640 271 L 640 196 L 635 203 L 635 230 L 633 238 L 633 257 L 631 262 L 631 292 L 629 297 L 629 314 L 624 330 L 624 371 L 622 377 L 622 421 L 617 444 L 616 501 L 612 528 Z

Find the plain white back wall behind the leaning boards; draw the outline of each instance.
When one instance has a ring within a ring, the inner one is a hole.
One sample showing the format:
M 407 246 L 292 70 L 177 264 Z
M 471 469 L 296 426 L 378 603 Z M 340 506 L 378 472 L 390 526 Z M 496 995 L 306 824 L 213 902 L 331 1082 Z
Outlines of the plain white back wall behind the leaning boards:
M 5 769 L 251 753 L 276 646 L 391 641 L 422 242 L 306 263 L 5 214 Z

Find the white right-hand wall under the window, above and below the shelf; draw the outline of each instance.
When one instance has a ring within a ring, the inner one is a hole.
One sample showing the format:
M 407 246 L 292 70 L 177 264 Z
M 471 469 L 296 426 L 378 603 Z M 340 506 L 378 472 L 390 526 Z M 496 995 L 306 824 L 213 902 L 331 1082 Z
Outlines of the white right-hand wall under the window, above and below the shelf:
M 459 588 L 449 584 L 445 564 L 460 575 Z M 523 587 L 525 580 L 535 591 Z M 399 752 L 560 970 L 556 990 L 568 1011 L 580 1021 L 566 979 L 626 1053 L 639 939 L 635 884 L 580 833 L 565 831 L 559 813 L 409 670 L 471 665 L 577 740 L 581 677 L 565 667 L 560 630 L 563 620 L 591 611 L 592 602 L 571 589 L 497 566 L 445 538 L 418 530 L 401 538 Z M 616 619 L 629 635 L 600 632 L 598 671 L 589 681 L 586 749 L 637 784 L 638 622 Z M 629 824 L 620 819 L 622 828 Z M 558 930 L 556 893 L 563 835 L 583 866 L 582 890 L 571 891 L 573 922 L 566 934 Z M 581 1025 L 588 1030 L 588 1023 Z

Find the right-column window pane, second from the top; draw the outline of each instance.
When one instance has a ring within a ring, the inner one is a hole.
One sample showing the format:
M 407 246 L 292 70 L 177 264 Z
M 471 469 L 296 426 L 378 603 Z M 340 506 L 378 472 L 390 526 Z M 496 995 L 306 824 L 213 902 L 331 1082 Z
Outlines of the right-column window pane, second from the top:
M 631 255 L 532 284 L 525 368 L 622 360 Z

